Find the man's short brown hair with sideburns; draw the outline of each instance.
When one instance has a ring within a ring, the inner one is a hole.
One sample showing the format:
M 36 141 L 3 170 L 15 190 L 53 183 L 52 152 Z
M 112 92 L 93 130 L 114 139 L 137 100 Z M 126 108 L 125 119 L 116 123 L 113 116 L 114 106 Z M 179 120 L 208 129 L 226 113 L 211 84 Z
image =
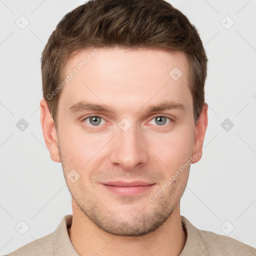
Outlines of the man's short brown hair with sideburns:
M 60 20 L 42 52 L 43 97 L 56 127 L 61 91 L 54 97 L 51 93 L 63 80 L 70 55 L 93 46 L 164 47 L 185 52 L 196 123 L 204 103 L 207 57 L 195 26 L 164 0 L 89 0 Z

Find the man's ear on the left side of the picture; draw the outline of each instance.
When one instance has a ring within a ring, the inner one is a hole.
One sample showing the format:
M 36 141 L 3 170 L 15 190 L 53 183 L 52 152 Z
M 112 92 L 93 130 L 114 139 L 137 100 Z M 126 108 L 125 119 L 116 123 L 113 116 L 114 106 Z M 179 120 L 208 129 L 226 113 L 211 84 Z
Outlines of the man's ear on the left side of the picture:
M 50 153 L 50 158 L 54 162 L 60 162 L 57 133 L 53 119 L 50 115 L 48 104 L 44 98 L 40 100 L 40 122 L 44 141 Z

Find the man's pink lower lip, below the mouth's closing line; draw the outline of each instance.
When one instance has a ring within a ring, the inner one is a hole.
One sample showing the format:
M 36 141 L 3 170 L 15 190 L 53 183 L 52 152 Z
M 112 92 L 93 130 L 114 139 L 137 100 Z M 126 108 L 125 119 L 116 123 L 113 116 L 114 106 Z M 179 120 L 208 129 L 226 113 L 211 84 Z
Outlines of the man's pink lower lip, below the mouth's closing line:
M 149 190 L 154 184 L 146 186 L 111 186 L 103 184 L 106 189 L 119 195 L 132 196 Z

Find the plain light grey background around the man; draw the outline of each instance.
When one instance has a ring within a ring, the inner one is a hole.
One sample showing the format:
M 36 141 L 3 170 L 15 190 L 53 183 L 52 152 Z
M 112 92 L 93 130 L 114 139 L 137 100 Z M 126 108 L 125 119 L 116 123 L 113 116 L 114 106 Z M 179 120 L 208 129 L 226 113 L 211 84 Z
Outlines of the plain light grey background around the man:
M 256 247 L 256 1 L 169 2 L 198 28 L 209 59 L 209 123 L 181 214 Z M 0 254 L 52 232 L 72 213 L 61 164 L 50 159 L 41 131 L 40 54 L 62 16 L 82 3 L 0 0 Z M 23 131 L 21 118 L 29 125 Z M 226 118 L 233 127 L 221 126 Z M 29 226 L 24 234 L 15 229 L 21 220 Z

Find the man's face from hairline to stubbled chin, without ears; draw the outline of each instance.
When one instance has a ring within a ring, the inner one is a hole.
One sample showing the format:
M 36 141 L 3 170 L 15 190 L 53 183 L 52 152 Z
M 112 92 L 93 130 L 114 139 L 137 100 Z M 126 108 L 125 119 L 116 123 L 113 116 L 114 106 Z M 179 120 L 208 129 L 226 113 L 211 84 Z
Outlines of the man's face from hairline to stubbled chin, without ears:
M 75 54 L 64 69 L 64 77 L 75 73 L 58 109 L 65 180 L 100 228 L 146 234 L 177 207 L 190 163 L 201 154 L 187 59 L 162 49 L 93 50 Z M 85 65 L 80 61 L 88 54 L 93 57 Z

